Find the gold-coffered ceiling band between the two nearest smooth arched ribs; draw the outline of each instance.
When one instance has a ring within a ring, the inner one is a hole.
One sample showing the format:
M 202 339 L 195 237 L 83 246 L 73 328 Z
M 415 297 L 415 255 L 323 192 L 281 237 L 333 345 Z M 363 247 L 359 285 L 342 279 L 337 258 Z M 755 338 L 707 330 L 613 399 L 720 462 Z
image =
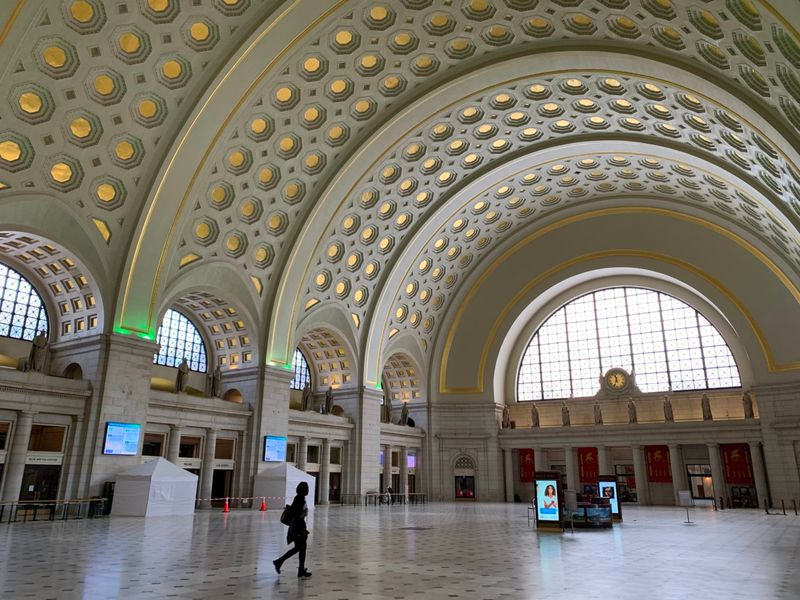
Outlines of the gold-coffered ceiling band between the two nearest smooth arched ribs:
M 795 59 L 794 32 L 765 5 L 583 0 L 543 6 L 511 0 L 339 5 L 287 52 L 220 133 L 224 142 L 190 183 L 194 213 L 180 241 L 166 242 L 181 248 L 172 268 L 225 256 L 271 298 L 299 217 L 308 215 L 317 190 L 362 133 L 450 73 L 551 48 L 556 39 L 580 41 L 587 51 L 627 48 L 691 63 L 737 89 L 770 121 L 791 119 L 792 71 L 784 67 Z

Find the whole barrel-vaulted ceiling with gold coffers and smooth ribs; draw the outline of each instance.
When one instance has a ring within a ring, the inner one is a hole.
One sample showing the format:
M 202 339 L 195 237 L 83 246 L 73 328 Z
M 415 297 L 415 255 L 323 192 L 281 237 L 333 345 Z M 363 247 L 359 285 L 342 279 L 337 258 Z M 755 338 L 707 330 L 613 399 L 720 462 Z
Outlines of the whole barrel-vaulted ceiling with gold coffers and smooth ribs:
M 3 229 L 69 215 L 55 241 L 101 282 L 109 329 L 152 336 L 181 287 L 252 314 L 250 356 L 289 362 L 331 305 L 361 352 L 407 335 L 425 354 L 495 248 L 623 205 L 735 231 L 800 281 L 791 0 L 0 11 Z

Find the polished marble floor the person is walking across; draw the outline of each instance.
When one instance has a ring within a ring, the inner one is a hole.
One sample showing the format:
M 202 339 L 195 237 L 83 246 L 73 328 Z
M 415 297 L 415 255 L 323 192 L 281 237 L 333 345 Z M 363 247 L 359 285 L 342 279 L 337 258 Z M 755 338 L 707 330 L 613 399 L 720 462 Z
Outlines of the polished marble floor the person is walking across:
M 521 504 L 318 508 L 307 568 L 278 513 L 0 525 L 0 598 L 800 598 L 800 517 L 630 507 L 613 530 L 537 533 Z

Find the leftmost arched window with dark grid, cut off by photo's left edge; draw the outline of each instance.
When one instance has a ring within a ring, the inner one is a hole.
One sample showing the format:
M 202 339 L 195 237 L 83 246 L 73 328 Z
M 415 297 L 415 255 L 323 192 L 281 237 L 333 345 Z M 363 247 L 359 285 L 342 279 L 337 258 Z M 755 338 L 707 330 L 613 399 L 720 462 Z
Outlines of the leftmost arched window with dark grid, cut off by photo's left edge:
M 32 340 L 49 324 L 44 302 L 31 282 L 0 263 L 0 336 Z

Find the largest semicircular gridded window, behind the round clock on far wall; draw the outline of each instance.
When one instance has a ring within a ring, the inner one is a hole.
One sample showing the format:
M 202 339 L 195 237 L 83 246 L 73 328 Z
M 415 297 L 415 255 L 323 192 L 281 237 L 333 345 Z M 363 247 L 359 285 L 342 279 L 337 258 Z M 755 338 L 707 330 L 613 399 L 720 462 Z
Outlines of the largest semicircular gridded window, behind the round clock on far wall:
M 522 356 L 517 400 L 594 396 L 615 367 L 644 393 L 741 385 L 730 348 L 694 308 L 662 292 L 610 288 L 542 323 Z

